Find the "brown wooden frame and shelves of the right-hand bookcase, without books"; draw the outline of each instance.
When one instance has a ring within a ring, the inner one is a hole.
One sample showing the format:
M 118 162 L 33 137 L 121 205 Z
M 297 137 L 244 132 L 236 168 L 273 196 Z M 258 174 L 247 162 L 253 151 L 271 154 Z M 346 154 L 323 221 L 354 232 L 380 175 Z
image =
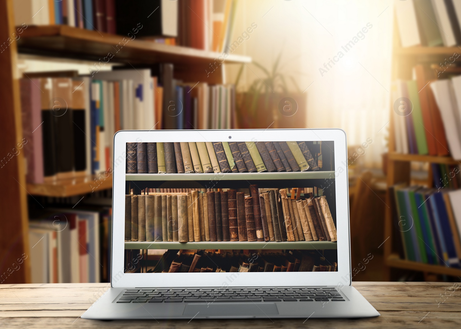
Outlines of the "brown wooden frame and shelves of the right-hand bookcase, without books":
M 394 19 L 393 31 L 393 46 L 392 46 L 392 81 L 396 79 L 411 80 L 412 68 L 417 64 L 438 63 L 443 62 L 448 56 L 453 53 L 459 53 L 459 47 L 408 47 L 402 48 L 396 19 Z M 428 88 L 428 86 L 426 86 Z M 445 164 L 445 165 L 460 165 L 459 161 L 446 156 L 430 156 L 420 154 L 401 154 L 396 153 L 395 138 L 394 138 L 394 122 L 393 122 L 393 102 L 390 102 L 390 129 L 389 129 L 389 155 L 387 162 L 387 195 L 386 195 L 386 213 L 384 224 L 384 239 L 387 239 L 384 244 L 384 278 L 389 280 L 393 277 L 393 269 L 414 270 L 423 272 L 425 277 L 427 274 L 445 274 L 450 276 L 461 276 L 461 270 L 442 265 L 433 265 L 414 262 L 406 259 L 401 259 L 396 250 L 393 240 L 393 213 L 391 198 L 393 195 L 389 193 L 389 187 L 400 182 L 410 184 L 410 164 L 413 161 L 426 162 L 429 164 Z M 431 166 L 429 166 L 427 186 L 432 187 L 433 177 Z

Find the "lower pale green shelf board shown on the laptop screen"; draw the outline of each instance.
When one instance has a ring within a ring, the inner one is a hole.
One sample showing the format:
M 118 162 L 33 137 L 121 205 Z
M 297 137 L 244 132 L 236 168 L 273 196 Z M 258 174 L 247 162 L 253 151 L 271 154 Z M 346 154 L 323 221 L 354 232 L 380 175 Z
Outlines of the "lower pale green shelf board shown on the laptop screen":
M 337 249 L 337 243 L 331 241 L 125 241 L 125 249 Z

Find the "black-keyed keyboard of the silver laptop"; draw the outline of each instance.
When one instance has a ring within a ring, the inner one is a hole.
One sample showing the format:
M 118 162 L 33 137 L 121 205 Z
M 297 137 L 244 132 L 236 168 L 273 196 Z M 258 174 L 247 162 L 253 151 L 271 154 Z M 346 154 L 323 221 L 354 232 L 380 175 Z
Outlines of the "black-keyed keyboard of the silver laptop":
M 345 301 L 336 288 L 145 288 L 125 289 L 117 303 Z

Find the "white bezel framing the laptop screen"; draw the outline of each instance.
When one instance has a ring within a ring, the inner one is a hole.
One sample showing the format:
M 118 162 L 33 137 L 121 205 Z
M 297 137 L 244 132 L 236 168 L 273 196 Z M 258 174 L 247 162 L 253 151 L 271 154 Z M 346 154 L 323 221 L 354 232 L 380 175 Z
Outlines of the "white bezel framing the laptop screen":
M 229 139 L 229 136 L 232 138 Z M 337 272 L 124 273 L 127 142 L 334 141 Z M 112 287 L 251 287 L 350 285 L 349 188 L 346 134 L 341 129 L 124 130 L 114 136 Z

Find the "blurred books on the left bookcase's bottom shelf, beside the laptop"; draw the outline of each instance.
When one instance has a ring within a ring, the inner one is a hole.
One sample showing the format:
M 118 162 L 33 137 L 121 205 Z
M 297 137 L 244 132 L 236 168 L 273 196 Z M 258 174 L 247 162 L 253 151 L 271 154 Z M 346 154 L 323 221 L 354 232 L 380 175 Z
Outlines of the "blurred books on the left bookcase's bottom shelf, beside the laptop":
M 110 208 L 101 212 L 65 209 L 31 220 L 31 282 L 107 282 L 111 217 Z

